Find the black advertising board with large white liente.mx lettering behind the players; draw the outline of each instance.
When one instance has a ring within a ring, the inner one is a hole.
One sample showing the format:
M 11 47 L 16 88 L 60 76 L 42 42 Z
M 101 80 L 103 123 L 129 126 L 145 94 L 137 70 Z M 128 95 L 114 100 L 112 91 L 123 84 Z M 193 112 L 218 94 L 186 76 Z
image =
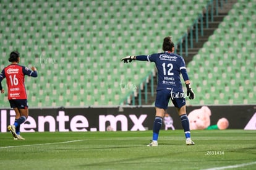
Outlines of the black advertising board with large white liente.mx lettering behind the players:
M 229 129 L 256 129 L 256 106 L 208 106 L 211 109 L 211 125 L 226 117 Z M 200 106 L 187 106 L 187 113 Z M 182 129 L 176 109 L 168 108 L 173 124 L 162 129 Z M 7 125 L 13 124 L 15 113 L 12 109 L 0 109 L 0 130 L 7 132 Z M 21 132 L 78 132 L 106 130 L 148 130 L 152 129 L 155 108 L 53 108 L 29 109 L 29 117 L 21 125 Z M 170 121 L 170 120 L 169 120 Z

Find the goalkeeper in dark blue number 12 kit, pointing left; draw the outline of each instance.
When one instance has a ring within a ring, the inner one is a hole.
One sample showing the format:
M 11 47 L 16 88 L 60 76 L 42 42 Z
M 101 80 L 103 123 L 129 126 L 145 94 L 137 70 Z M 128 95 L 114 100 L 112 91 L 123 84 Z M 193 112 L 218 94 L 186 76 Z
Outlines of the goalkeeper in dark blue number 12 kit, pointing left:
M 189 76 L 187 75 L 185 61 L 182 56 L 174 54 L 174 43 L 171 41 L 170 36 L 165 37 L 163 40 L 163 51 L 163 53 L 151 54 L 148 56 L 127 56 L 121 59 L 124 61 L 124 63 L 132 62 L 132 60 L 155 62 L 158 70 L 158 85 L 156 88 L 155 99 L 156 114 L 155 121 L 153 123 L 153 138 L 152 142 L 147 146 L 158 146 L 158 134 L 161 129 L 163 116 L 168 108 L 170 99 L 181 118 L 181 124 L 186 137 L 186 144 L 195 145 L 190 138 L 189 119 L 187 118 L 185 100 L 186 96 L 189 97 L 190 100 L 194 99 L 194 92 L 190 87 L 190 80 Z M 185 95 L 184 91 L 182 90 L 180 74 L 182 74 L 185 81 L 187 95 Z

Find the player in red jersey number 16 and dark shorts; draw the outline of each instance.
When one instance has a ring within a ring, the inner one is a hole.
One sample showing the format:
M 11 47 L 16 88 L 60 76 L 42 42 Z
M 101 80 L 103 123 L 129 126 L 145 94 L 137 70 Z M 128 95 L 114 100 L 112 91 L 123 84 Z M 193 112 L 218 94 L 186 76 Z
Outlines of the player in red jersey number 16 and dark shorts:
M 8 100 L 11 108 L 15 111 L 15 122 L 14 125 L 8 125 L 7 129 L 12 133 L 15 140 L 21 139 L 20 136 L 20 124 L 26 121 L 28 118 L 28 104 L 27 104 L 27 93 L 25 90 L 24 77 L 25 75 L 37 77 L 35 67 L 20 66 L 20 54 L 18 51 L 12 51 L 9 57 L 11 64 L 5 67 L 0 74 L 0 90 L 4 93 L 2 88 L 2 79 L 6 78 L 8 87 Z

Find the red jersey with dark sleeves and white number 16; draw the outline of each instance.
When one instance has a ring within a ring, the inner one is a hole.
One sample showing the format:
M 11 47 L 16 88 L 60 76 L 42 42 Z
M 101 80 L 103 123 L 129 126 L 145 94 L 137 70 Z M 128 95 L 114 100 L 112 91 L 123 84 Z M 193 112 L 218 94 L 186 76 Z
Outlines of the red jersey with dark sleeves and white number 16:
M 2 90 L 2 79 L 6 78 L 9 100 L 27 99 L 24 84 L 25 75 L 37 77 L 37 72 L 19 64 L 11 64 L 2 70 L 0 74 L 0 90 Z

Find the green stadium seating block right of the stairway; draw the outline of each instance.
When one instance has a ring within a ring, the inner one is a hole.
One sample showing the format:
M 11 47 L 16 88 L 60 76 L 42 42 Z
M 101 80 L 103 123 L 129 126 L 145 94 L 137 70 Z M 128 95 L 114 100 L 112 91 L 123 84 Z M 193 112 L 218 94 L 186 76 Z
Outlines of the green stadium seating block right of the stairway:
M 238 1 L 189 63 L 197 96 L 188 104 L 256 103 L 255 7 L 254 1 Z

